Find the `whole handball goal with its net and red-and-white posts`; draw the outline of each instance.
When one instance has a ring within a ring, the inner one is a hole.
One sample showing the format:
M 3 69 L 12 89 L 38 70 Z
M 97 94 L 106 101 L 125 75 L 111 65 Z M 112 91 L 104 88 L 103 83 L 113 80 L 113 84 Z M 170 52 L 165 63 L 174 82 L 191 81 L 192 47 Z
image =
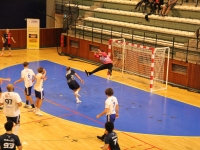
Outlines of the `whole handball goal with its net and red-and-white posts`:
M 113 69 L 123 77 L 150 84 L 150 91 L 167 89 L 169 47 L 152 48 L 110 39 L 108 52 L 112 53 Z

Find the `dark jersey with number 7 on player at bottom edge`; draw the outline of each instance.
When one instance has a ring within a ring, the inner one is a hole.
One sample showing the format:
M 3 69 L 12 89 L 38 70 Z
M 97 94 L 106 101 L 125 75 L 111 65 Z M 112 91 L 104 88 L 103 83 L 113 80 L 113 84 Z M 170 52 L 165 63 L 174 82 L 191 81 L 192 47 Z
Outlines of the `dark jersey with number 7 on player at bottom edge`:
M 117 134 L 115 132 L 110 132 L 105 136 L 105 144 L 109 144 L 110 150 L 120 150 Z

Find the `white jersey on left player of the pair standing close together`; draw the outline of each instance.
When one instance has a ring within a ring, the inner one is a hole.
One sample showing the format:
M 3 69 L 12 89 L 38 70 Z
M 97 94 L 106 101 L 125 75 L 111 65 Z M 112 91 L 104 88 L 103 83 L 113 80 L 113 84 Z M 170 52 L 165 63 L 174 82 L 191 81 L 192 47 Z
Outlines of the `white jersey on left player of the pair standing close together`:
M 26 88 L 33 86 L 32 78 L 35 75 L 32 69 L 24 68 L 21 71 L 21 78 L 24 79 L 24 85 Z

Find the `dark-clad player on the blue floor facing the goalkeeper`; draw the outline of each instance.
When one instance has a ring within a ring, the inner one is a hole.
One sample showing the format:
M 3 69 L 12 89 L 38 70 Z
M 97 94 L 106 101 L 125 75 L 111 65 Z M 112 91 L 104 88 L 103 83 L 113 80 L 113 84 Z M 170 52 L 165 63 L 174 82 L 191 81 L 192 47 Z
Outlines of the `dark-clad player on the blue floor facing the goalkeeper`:
M 81 81 L 82 84 L 84 84 L 84 81 L 79 77 L 79 75 L 74 70 L 71 70 L 70 67 L 67 67 L 66 69 L 67 69 L 66 73 L 67 84 L 69 88 L 74 91 L 74 95 L 76 97 L 76 103 L 80 103 L 81 100 L 79 99 L 80 95 L 78 93 L 81 90 L 81 87 L 76 81 L 75 76 Z

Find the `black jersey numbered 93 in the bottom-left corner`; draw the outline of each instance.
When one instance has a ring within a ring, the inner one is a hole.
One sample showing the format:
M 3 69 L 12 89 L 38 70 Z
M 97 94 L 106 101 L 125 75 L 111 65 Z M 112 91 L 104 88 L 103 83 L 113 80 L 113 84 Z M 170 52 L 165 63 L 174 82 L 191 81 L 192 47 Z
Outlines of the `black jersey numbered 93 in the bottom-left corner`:
M 1 150 L 16 150 L 16 146 L 21 146 L 19 137 L 14 134 L 3 134 L 0 136 Z

